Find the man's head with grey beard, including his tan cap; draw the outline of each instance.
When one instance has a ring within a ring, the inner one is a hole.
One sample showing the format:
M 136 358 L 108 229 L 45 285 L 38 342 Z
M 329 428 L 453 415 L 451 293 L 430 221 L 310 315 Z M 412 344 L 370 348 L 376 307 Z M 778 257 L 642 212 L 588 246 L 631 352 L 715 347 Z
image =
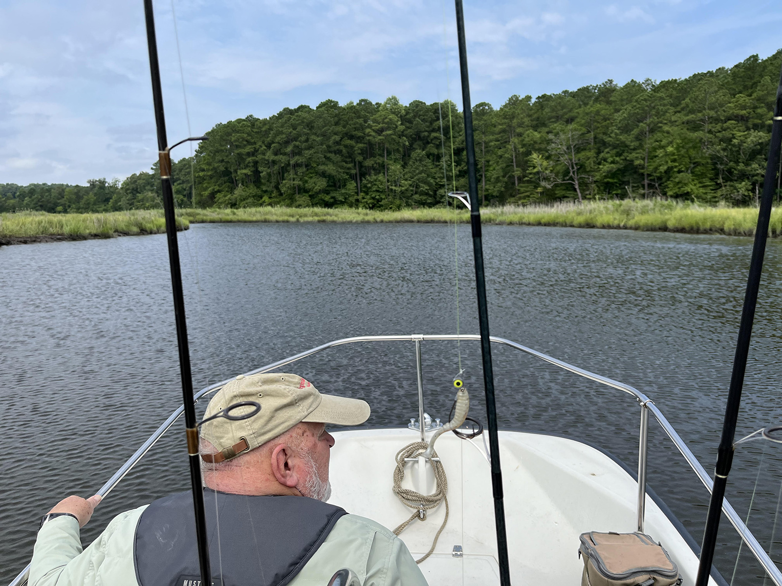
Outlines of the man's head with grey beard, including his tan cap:
M 260 413 L 246 420 L 217 418 L 203 424 L 206 486 L 235 494 L 328 499 L 329 449 L 334 438 L 325 424 L 364 423 L 368 404 L 321 395 L 295 374 L 239 375 L 217 391 L 206 416 L 240 401 L 259 403 Z

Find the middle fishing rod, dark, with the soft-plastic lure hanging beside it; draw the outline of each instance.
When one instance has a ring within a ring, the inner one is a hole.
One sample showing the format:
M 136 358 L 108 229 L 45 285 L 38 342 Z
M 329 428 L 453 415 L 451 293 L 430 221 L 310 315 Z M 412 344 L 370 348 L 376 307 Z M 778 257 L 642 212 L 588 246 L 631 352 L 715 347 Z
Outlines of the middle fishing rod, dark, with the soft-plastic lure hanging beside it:
M 470 80 L 467 71 L 467 42 L 465 41 L 465 14 L 462 0 L 456 2 L 456 30 L 459 38 L 459 68 L 461 70 L 461 101 L 465 110 L 465 147 L 467 148 L 467 176 L 470 194 L 478 193 L 478 175 L 475 170 L 475 141 L 472 136 L 472 105 L 470 104 Z M 494 373 L 491 364 L 489 339 L 489 311 L 486 307 L 486 277 L 483 273 L 483 244 L 481 237 L 480 198 L 470 205 L 472 226 L 472 252 L 475 256 L 475 290 L 478 293 L 478 322 L 481 334 L 483 359 L 483 386 L 486 391 L 486 427 L 489 430 L 491 484 L 494 495 L 494 521 L 497 524 L 497 558 L 500 562 L 500 584 L 511 586 L 511 570 L 508 561 L 508 535 L 505 531 L 505 504 L 500 470 L 500 440 L 497 437 L 497 406 L 494 402 Z

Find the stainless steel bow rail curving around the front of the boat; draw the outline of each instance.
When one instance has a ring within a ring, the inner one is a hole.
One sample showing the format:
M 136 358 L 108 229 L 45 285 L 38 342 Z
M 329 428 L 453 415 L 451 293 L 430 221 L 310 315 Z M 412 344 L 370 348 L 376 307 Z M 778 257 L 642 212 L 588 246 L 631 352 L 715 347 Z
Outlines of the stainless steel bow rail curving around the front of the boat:
M 456 341 L 456 340 L 478 340 L 479 341 L 480 339 L 481 337 L 479 336 L 479 334 L 461 334 L 461 335 L 411 334 L 407 336 L 357 336 L 354 338 L 342 338 L 341 340 L 330 341 L 327 344 L 320 345 L 315 348 L 310 348 L 310 350 L 307 350 L 305 352 L 300 352 L 299 354 L 290 356 L 289 358 L 278 360 L 275 363 L 267 364 L 266 366 L 261 366 L 256 370 L 250 370 L 248 373 L 245 373 L 245 376 L 249 376 L 250 374 L 266 373 L 269 372 L 270 370 L 276 370 L 278 368 L 281 368 L 282 366 L 287 366 L 303 358 L 307 358 L 308 356 L 317 354 L 318 352 L 323 352 L 328 348 L 335 348 L 336 346 L 342 346 L 346 344 L 357 344 L 361 342 L 376 342 L 376 341 L 407 341 L 407 342 L 412 341 L 415 344 L 416 368 L 418 370 L 418 401 L 419 401 L 418 407 L 419 407 L 419 412 L 423 413 L 423 392 L 422 392 L 422 382 L 421 382 L 422 381 L 421 342 Z M 619 381 L 614 381 L 613 379 L 608 377 L 602 377 L 601 375 L 592 373 L 589 370 L 583 370 L 583 368 L 579 368 L 578 366 L 573 366 L 572 364 L 565 363 L 552 356 L 543 354 L 543 352 L 537 352 L 536 350 L 533 350 L 532 348 L 527 348 L 526 346 L 518 344 L 515 341 L 506 340 L 505 338 L 497 338 L 497 336 L 492 336 L 490 340 L 494 344 L 502 344 L 502 345 L 510 346 L 511 348 L 515 348 L 519 352 L 524 352 L 529 356 L 534 356 L 537 359 L 543 360 L 543 362 L 552 364 L 554 366 L 558 366 L 562 370 L 567 370 L 570 373 L 577 374 L 579 377 L 587 378 L 590 381 L 603 384 L 609 388 L 614 388 L 617 391 L 623 391 L 628 395 L 632 395 L 636 399 L 636 401 L 640 406 L 640 431 L 638 434 L 638 438 L 639 438 L 638 502 L 637 502 L 638 531 L 644 530 L 644 505 L 646 502 L 645 497 L 646 497 L 646 467 L 647 467 L 646 456 L 647 456 L 649 413 L 655 416 L 655 419 L 658 421 L 663 431 L 665 431 L 665 434 L 667 434 L 670 440 L 673 441 L 673 445 L 675 445 L 676 448 L 681 453 L 681 455 L 684 456 L 684 459 L 690 465 L 695 475 L 698 476 L 698 478 L 704 484 L 704 486 L 709 491 L 709 493 L 711 493 L 712 486 L 714 484 L 712 481 L 712 477 L 710 477 L 706 472 L 706 470 L 704 469 L 704 467 L 701 466 L 701 463 L 698 462 L 698 459 L 691 452 L 690 448 L 687 447 L 687 444 L 684 443 L 683 439 L 680 438 L 680 435 L 676 433 L 676 430 L 673 429 L 673 426 L 669 423 L 669 421 L 665 419 L 665 416 L 660 412 L 660 409 L 657 408 L 655 403 L 651 402 L 651 399 L 648 398 L 646 395 L 644 395 L 644 393 L 638 391 L 637 388 L 631 387 L 629 384 L 624 384 L 624 383 L 620 383 Z M 217 391 L 217 389 L 221 388 L 224 384 L 232 380 L 233 377 L 228 378 L 225 381 L 221 381 L 219 383 L 210 384 L 210 386 L 203 388 L 197 393 L 195 393 L 193 398 L 197 402 L 199 401 L 199 399 L 203 398 L 206 395 L 210 395 L 210 393 L 213 393 L 214 391 Z M 156 442 L 163 437 L 163 434 L 165 434 L 168 431 L 168 429 L 174 424 L 174 422 L 179 419 L 179 417 L 182 415 L 183 412 L 184 412 L 184 407 L 179 407 L 177 410 L 174 411 L 174 413 L 171 413 L 170 416 L 168 416 L 168 419 L 165 420 L 163 424 L 160 427 L 158 427 L 152 435 L 149 436 L 147 441 L 145 441 L 141 445 L 141 447 L 134 452 L 133 456 L 127 459 L 127 462 L 125 462 L 120 467 L 120 469 L 117 470 L 117 472 L 115 472 L 113 476 L 109 478 L 108 481 L 106 481 L 106 484 L 103 484 L 103 486 L 100 488 L 97 494 L 101 495 L 102 497 L 105 497 L 115 486 L 117 486 L 117 484 L 120 484 L 120 481 L 125 477 L 125 475 L 128 472 L 130 472 L 133 469 L 133 466 L 135 466 L 144 457 L 146 452 L 149 452 L 149 449 L 152 448 L 152 446 L 155 445 Z M 766 551 L 759 544 L 758 540 L 755 539 L 755 536 L 752 534 L 752 532 L 749 531 L 747 526 L 744 524 L 744 521 L 742 521 L 741 517 L 738 516 L 738 513 L 736 513 L 733 506 L 730 506 L 730 502 L 728 502 L 727 499 L 723 501 L 723 513 L 725 513 L 725 516 L 728 518 L 728 520 L 730 520 L 730 523 L 734 526 L 737 533 L 741 537 L 741 540 L 744 541 L 744 544 L 746 544 L 747 547 L 750 548 L 750 550 L 752 550 L 752 553 L 755 555 L 755 558 L 758 560 L 760 565 L 763 566 L 763 569 L 766 570 L 766 573 L 768 573 L 773 583 L 776 584 L 777 586 L 782 586 L 782 572 L 780 572 L 779 568 L 777 568 L 777 565 L 773 563 L 772 559 L 769 557 Z M 16 578 L 14 578 L 14 580 L 9 584 L 9 586 L 21 586 L 22 584 L 24 584 L 27 581 L 27 574 L 29 572 L 30 572 L 30 565 L 28 564 L 27 567 L 24 570 L 22 570 L 19 573 L 19 575 L 16 576 Z

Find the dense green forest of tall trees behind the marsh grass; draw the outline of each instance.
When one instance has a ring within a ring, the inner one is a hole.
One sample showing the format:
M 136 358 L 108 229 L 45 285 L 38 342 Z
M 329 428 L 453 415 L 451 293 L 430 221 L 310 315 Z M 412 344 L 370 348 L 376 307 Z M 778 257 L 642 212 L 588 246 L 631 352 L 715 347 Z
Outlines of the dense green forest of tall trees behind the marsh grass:
M 762 188 L 782 50 L 687 79 L 630 81 L 475 105 L 486 203 L 676 198 L 746 205 Z M 183 207 L 400 209 L 466 189 L 464 123 L 453 102 L 367 99 L 285 108 L 213 127 L 174 164 Z M 453 153 L 453 154 L 452 154 Z M 195 190 L 192 181 L 195 179 Z M 122 181 L 0 184 L 0 211 L 160 206 L 156 165 Z

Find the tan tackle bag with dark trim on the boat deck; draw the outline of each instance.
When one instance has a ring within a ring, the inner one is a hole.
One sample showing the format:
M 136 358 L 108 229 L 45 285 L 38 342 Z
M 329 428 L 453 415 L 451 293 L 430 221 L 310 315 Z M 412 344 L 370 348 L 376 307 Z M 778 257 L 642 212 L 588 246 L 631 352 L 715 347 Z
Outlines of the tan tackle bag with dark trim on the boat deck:
M 643 533 L 581 534 L 581 586 L 671 586 L 681 584 L 668 552 Z

